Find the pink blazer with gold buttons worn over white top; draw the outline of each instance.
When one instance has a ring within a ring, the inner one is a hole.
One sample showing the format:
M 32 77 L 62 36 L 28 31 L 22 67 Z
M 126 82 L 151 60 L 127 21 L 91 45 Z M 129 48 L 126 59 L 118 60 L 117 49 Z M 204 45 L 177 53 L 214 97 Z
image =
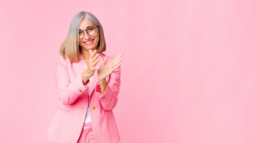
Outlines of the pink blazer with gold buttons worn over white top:
M 101 65 L 106 55 L 99 53 Z M 66 56 L 67 57 L 67 56 Z M 81 73 L 85 70 L 82 54 L 79 62 L 71 62 L 67 57 L 58 56 L 55 81 L 60 99 L 47 132 L 47 138 L 54 143 L 76 143 L 85 121 L 88 106 L 90 107 L 92 130 L 97 143 L 117 143 L 120 141 L 112 109 L 117 104 L 120 84 L 120 66 L 106 78 L 107 88 L 101 94 L 98 74 L 95 71 L 90 81 L 83 85 Z M 108 62 L 113 58 L 109 57 Z M 88 103 L 88 89 L 90 101 Z

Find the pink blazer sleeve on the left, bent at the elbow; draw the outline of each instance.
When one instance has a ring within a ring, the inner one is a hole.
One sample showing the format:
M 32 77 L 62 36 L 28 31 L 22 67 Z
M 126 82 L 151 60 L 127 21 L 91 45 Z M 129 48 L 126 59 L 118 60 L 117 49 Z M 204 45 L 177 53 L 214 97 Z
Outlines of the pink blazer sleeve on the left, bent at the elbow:
M 74 103 L 79 95 L 90 88 L 89 82 L 83 85 L 82 75 L 70 81 L 68 64 L 61 55 L 56 62 L 55 82 L 59 99 L 64 105 Z

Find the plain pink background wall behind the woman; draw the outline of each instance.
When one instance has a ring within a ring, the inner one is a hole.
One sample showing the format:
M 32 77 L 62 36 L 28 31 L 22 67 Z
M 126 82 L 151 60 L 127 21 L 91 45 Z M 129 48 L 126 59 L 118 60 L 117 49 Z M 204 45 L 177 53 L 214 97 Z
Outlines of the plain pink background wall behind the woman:
M 1 0 L 1 143 L 49 143 L 79 11 L 103 25 L 105 54 L 124 54 L 120 143 L 256 143 L 255 0 Z

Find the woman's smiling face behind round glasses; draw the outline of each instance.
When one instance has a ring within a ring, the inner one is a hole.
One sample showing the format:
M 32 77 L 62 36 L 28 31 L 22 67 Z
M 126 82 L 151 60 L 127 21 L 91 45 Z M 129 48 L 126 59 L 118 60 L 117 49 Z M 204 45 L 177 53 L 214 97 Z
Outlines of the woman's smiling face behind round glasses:
M 79 32 L 83 31 L 83 38 L 79 39 L 79 45 L 83 50 L 89 51 L 90 49 L 93 51 L 97 48 L 99 43 L 99 29 L 95 28 L 95 33 L 93 35 L 89 35 L 86 31 L 88 27 L 96 27 L 90 20 L 87 18 L 83 18 L 79 25 Z

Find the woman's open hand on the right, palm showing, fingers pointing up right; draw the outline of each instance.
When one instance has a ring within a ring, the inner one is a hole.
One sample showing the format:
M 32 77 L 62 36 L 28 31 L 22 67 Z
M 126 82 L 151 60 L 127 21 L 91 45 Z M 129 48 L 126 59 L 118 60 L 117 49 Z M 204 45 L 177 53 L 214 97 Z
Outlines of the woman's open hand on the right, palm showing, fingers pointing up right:
M 115 57 L 115 59 L 106 64 L 106 62 L 108 61 L 108 57 L 105 57 L 98 70 L 99 81 L 105 80 L 106 77 L 108 77 L 108 75 L 110 75 L 114 70 L 116 70 L 117 67 L 121 65 L 121 61 L 123 59 L 123 54 L 119 54 L 117 57 Z

